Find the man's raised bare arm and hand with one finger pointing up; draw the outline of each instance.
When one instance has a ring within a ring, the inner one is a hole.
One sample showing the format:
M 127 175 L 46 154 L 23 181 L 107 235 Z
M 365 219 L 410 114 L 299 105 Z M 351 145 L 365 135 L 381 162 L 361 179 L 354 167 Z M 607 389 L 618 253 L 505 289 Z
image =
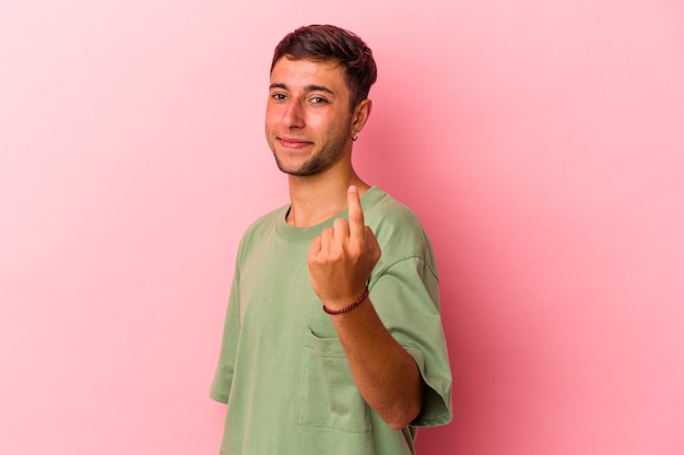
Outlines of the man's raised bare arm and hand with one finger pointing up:
M 314 240 L 308 255 L 314 290 L 331 310 L 363 294 L 380 258 L 373 231 L 364 225 L 358 193 L 350 188 L 349 223 L 339 218 Z M 354 310 L 331 315 L 354 382 L 366 403 L 393 429 L 408 426 L 420 412 L 422 379 L 413 358 L 392 338 L 368 300 Z

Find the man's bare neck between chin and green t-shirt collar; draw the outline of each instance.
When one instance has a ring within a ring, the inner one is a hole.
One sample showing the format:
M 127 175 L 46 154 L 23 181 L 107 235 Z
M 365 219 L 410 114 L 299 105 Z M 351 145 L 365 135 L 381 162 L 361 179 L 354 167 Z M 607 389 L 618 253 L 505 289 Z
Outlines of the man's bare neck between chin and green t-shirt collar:
M 368 190 L 354 170 L 340 178 L 326 172 L 310 177 L 288 176 L 291 207 L 287 223 L 295 227 L 310 227 L 346 208 L 346 190 L 354 184 L 359 195 Z

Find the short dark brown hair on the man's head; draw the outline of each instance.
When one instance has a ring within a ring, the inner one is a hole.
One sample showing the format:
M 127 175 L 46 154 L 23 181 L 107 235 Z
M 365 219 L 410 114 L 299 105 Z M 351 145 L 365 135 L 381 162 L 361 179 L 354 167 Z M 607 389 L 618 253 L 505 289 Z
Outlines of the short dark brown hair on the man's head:
M 334 25 L 309 25 L 286 35 L 275 47 L 271 71 L 281 58 L 331 61 L 344 70 L 350 109 L 368 97 L 377 79 L 373 52 L 356 35 Z

